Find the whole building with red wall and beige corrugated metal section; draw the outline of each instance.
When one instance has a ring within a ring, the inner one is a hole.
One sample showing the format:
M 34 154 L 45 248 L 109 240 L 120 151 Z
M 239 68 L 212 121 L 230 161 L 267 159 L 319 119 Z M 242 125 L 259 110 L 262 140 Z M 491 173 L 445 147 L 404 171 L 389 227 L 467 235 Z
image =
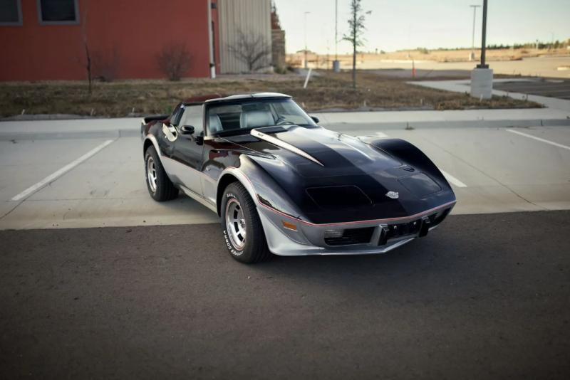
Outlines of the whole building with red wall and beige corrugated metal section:
M 165 78 L 165 51 L 187 52 L 183 77 L 242 73 L 237 32 L 271 49 L 270 14 L 270 0 L 0 0 L 0 80 Z

